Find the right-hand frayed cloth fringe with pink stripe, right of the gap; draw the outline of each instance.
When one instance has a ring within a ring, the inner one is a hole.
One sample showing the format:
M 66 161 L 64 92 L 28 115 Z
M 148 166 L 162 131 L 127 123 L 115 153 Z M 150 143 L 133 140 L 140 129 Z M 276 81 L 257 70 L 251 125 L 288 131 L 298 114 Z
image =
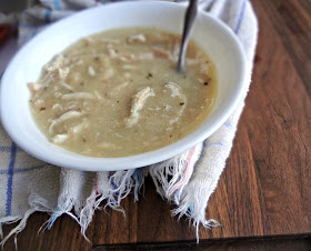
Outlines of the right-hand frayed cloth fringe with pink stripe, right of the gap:
M 195 228 L 197 242 L 199 242 L 200 224 L 208 229 L 220 225 L 214 219 L 205 219 L 208 199 L 214 188 L 205 188 L 204 184 L 197 185 L 197 182 L 193 185 L 193 182 L 190 181 L 202 148 L 203 143 L 199 143 L 183 154 L 149 168 L 159 194 L 178 205 L 171 210 L 171 214 L 178 215 L 178 219 L 187 217 Z

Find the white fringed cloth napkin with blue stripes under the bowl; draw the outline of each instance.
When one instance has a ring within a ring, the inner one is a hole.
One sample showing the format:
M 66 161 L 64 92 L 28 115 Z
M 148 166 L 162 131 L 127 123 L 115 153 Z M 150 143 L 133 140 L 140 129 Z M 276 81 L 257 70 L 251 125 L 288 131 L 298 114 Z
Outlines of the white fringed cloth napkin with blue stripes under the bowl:
M 22 44 L 56 20 L 106 2 L 40 0 L 39 6 L 20 14 L 19 42 Z M 258 32 L 251 3 L 248 0 L 203 0 L 200 6 L 227 23 L 240 39 L 247 52 L 250 82 Z M 81 225 L 84 235 L 100 204 L 120 210 L 121 200 L 130 192 L 138 200 L 147 175 L 153 179 L 161 197 L 175 205 L 172 215 L 187 215 L 199 238 L 200 223 L 207 228 L 218 225 L 215 220 L 205 219 L 205 208 L 229 157 L 247 92 L 248 89 L 228 121 L 204 142 L 161 163 L 133 170 L 86 172 L 53 167 L 27 154 L 0 127 L 1 243 L 22 231 L 27 219 L 36 211 L 50 214 L 48 229 L 58 217 L 67 213 Z M 1 225 L 17 221 L 19 224 L 3 238 Z

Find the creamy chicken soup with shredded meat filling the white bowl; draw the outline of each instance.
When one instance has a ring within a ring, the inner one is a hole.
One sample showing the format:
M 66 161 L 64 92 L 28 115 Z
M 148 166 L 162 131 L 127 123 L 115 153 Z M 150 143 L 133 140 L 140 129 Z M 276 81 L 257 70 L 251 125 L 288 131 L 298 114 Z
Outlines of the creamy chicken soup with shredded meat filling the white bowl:
M 34 120 L 49 140 L 90 157 L 126 157 L 175 142 L 208 117 L 214 66 L 190 41 L 175 71 L 180 37 L 124 28 L 83 38 L 29 83 Z

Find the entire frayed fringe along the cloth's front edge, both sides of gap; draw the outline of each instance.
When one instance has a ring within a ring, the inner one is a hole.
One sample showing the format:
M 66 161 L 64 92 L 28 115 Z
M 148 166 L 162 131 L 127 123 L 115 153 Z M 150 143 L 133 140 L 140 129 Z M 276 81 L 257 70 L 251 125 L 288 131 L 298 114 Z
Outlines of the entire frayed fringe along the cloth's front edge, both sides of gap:
M 26 228 L 28 218 L 36 211 L 48 212 L 51 214 L 50 219 L 42 224 L 42 229 L 51 229 L 53 222 L 63 213 L 70 215 L 76 220 L 80 228 L 81 234 L 87 241 L 90 241 L 86 231 L 92 221 L 96 210 L 106 210 L 110 207 L 113 210 L 120 211 L 126 215 L 121 207 L 121 201 L 131 191 L 134 193 L 134 200 L 138 201 L 139 191 L 144 183 L 144 177 L 150 174 L 159 194 L 178 207 L 171 211 L 172 215 L 178 215 L 178 219 L 187 217 L 195 228 L 197 241 L 199 242 L 199 225 L 205 228 L 220 225 L 215 220 L 205 220 L 205 208 L 209 195 L 212 191 L 207 191 L 204 185 L 191 185 L 189 183 L 190 177 L 193 173 L 193 167 L 200 158 L 202 144 L 198 144 L 183 154 L 163 161 L 160 165 L 154 164 L 149 169 L 134 169 L 117 172 L 101 172 L 97 173 L 93 180 L 91 194 L 81 204 L 76 192 L 68 192 L 67 187 L 62 188 L 62 193 L 58 200 L 58 207 L 52 207 L 46 199 L 33 193 L 29 197 L 30 209 L 21 217 L 9 217 L 1 219 L 0 223 L 12 223 L 21 220 L 19 224 L 10 231 L 10 233 L 0 242 L 3 247 L 6 241 L 13 234 L 14 243 L 17 243 L 17 234 Z M 69 171 L 71 174 L 72 171 Z M 62 175 L 66 178 L 67 172 Z M 184 188 L 187 189 L 184 190 Z M 100 207 L 100 203 L 106 200 L 106 204 Z M 202 203 L 204 201 L 204 203 Z M 74 214 L 71 213 L 74 209 Z M 0 228 L 0 235 L 2 238 L 2 229 Z

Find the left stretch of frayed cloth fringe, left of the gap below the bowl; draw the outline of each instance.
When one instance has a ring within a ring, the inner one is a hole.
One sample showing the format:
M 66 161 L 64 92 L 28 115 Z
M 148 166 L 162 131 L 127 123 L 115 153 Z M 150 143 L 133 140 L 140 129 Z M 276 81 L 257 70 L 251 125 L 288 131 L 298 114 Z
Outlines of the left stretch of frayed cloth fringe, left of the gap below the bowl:
M 72 174 L 72 171 L 69 172 Z M 86 235 L 86 231 L 92 221 L 94 211 L 106 210 L 107 207 L 110 207 L 126 215 L 121 207 L 121 201 L 131 191 L 134 191 L 134 200 L 138 201 L 139 192 L 143 185 L 147 173 L 148 172 L 143 169 L 117 171 L 110 177 L 108 172 L 98 173 L 93 181 L 91 194 L 83 204 L 81 204 L 79 197 L 74 192 L 68 192 L 66 187 L 62 188 L 62 193 L 58 200 L 58 207 L 52 207 L 46 199 L 37 193 L 32 193 L 28 200 L 30 209 L 26 211 L 23 217 L 7 217 L 0 219 L 0 237 L 2 239 L 0 245 L 3 247 L 7 240 L 14 234 L 17 248 L 17 234 L 26 228 L 27 220 L 36 211 L 48 212 L 51 215 L 50 219 L 41 225 L 38 232 L 51 229 L 54 221 L 60 215 L 68 214 L 79 223 L 81 227 L 81 234 L 87 241 L 90 241 Z M 68 173 L 63 172 L 62 175 L 66 178 Z M 107 201 L 104 207 L 100 207 L 100 203 L 104 200 Z M 74 214 L 71 213 L 73 209 Z M 2 224 L 13 223 L 19 220 L 19 224 L 3 238 Z

